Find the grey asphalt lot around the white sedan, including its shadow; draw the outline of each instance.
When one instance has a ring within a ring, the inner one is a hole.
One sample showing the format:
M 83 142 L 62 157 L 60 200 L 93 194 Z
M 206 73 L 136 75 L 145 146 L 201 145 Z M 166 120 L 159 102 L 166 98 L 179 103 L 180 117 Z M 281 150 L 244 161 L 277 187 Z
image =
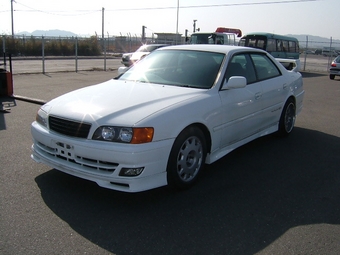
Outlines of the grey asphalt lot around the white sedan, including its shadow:
M 14 76 L 50 100 L 115 72 Z M 0 254 L 340 254 L 340 79 L 303 73 L 293 133 L 255 140 L 181 192 L 126 194 L 30 159 L 40 105 L 0 98 Z

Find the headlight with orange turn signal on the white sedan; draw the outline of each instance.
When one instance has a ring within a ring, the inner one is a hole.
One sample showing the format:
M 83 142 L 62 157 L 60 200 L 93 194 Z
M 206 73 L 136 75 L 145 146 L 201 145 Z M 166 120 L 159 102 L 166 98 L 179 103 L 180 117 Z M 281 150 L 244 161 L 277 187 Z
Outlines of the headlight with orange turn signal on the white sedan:
M 112 127 L 101 126 L 94 132 L 92 139 L 118 143 L 149 143 L 152 141 L 154 129 L 130 128 L 130 127 Z

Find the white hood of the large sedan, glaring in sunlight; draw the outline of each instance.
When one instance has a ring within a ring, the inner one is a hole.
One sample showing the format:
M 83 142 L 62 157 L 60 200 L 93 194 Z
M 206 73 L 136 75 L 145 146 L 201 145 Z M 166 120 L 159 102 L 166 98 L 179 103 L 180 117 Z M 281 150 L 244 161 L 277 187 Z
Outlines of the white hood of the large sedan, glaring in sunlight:
M 112 79 L 57 97 L 42 109 L 71 120 L 133 126 L 153 113 L 200 95 L 201 89 Z

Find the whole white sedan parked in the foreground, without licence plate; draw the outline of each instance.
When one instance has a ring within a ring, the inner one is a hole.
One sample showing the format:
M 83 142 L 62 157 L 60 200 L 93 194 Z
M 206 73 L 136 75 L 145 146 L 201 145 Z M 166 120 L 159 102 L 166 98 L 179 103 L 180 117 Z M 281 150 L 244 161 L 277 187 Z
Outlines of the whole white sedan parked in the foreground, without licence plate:
M 187 188 L 237 147 L 289 134 L 303 96 L 301 74 L 265 51 L 164 47 L 115 79 L 43 105 L 31 157 L 114 190 Z

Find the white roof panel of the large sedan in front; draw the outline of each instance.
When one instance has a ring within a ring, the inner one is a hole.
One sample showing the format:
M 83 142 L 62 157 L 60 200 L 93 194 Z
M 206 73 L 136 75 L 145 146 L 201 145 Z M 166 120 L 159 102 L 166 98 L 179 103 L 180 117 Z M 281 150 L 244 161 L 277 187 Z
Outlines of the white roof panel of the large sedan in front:
M 195 51 L 210 51 L 210 52 L 223 53 L 223 54 L 228 54 L 232 52 L 242 52 L 242 51 L 267 53 L 261 49 L 255 49 L 255 48 L 243 47 L 243 46 L 218 45 L 218 44 L 184 44 L 184 45 L 166 46 L 166 47 L 159 48 L 157 50 L 195 50 Z

